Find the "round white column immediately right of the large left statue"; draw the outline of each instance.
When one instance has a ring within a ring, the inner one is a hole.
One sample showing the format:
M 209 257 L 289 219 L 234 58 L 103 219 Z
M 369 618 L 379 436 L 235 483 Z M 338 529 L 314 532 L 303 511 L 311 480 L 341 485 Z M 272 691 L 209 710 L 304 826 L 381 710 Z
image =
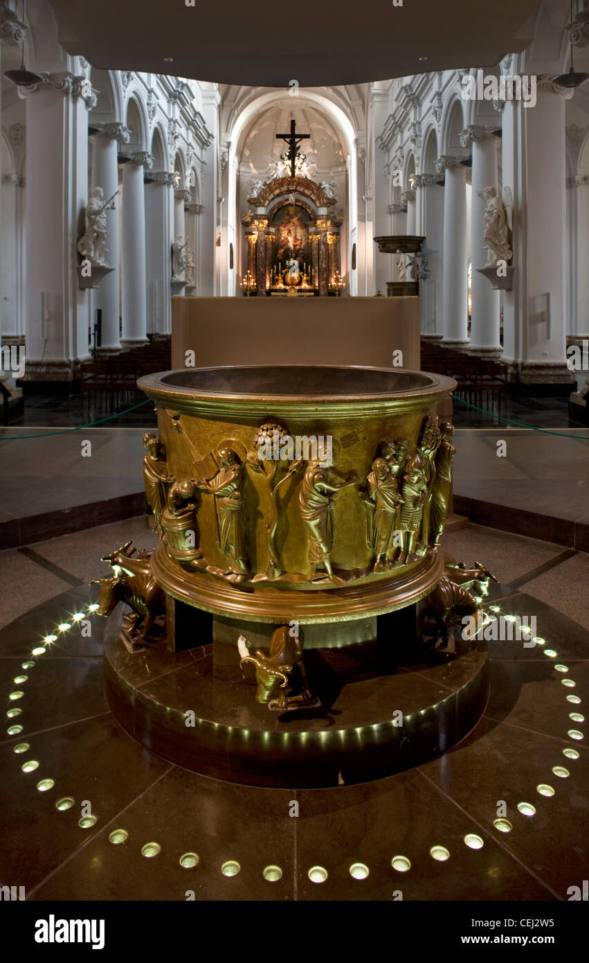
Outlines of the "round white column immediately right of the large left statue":
M 118 190 L 118 143 L 128 143 L 129 131 L 122 123 L 95 124 L 99 131 L 92 137 L 92 186 L 101 187 L 105 201 Z M 102 349 L 117 351 L 120 317 L 120 272 L 118 217 L 121 196 L 115 197 L 115 210 L 107 209 L 107 261 L 115 270 L 103 278 L 94 291 L 93 307 L 102 310 Z M 93 324 L 93 318 L 92 324 Z

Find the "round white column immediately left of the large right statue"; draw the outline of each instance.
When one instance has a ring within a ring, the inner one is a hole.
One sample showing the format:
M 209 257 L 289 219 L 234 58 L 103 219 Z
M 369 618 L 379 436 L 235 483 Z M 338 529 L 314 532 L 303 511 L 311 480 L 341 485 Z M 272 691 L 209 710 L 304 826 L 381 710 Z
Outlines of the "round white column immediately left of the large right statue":
M 471 316 L 471 350 L 500 356 L 499 291 L 491 287 L 484 274 L 477 272 L 487 263 L 488 250 L 483 242 L 485 202 L 478 192 L 498 186 L 497 138 L 485 127 L 470 126 L 460 134 L 463 147 L 473 151 L 473 194 L 471 210 L 471 244 L 473 248 L 473 310 Z

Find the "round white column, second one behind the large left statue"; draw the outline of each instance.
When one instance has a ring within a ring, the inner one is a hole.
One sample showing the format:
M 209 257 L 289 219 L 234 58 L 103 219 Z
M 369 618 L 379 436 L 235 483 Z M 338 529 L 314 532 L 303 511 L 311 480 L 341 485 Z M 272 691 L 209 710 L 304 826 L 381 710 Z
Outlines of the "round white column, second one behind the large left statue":
M 147 340 L 145 298 L 145 196 L 143 168 L 153 163 L 151 154 L 131 154 L 123 167 L 122 184 L 122 338 L 121 345 Z

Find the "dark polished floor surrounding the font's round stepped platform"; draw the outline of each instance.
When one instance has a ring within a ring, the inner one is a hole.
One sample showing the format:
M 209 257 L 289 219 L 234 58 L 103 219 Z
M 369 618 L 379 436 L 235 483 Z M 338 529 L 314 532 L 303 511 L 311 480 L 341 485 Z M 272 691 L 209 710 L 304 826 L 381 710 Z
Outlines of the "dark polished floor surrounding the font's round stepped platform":
M 0 877 L 28 899 L 351 901 L 400 891 L 404 900 L 553 902 L 581 885 L 588 757 L 577 738 L 584 725 L 570 714 L 581 715 L 589 682 L 587 556 L 478 526 L 445 535 L 448 555 L 498 576 L 502 612 L 536 616 L 544 647 L 490 643 L 489 704 L 444 756 L 364 785 L 264 790 L 171 766 L 111 714 L 104 621 L 88 613 L 86 583 L 106 574 L 100 554 L 131 536 L 153 542 L 144 517 L 0 553 L 0 809 L 11 841 L 0 848 Z M 89 618 L 90 635 L 74 612 Z M 66 617 L 72 628 L 33 655 Z M 432 858 L 432 847 L 447 858 Z

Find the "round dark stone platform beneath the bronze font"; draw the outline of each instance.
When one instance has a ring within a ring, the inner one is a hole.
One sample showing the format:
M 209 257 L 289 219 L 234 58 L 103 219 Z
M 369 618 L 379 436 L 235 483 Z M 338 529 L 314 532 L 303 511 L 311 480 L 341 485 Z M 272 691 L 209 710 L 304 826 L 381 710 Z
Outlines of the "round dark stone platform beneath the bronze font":
M 455 659 L 433 653 L 423 664 L 388 664 L 372 677 L 347 646 L 305 653 L 320 708 L 270 712 L 251 680 L 214 676 L 213 645 L 174 654 L 162 639 L 129 653 L 118 640 L 121 618 L 119 604 L 104 638 L 114 715 L 151 752 L 228 782 L 319 788 L 392 775 L 462 740 L 487 702 L 484 643 Z

